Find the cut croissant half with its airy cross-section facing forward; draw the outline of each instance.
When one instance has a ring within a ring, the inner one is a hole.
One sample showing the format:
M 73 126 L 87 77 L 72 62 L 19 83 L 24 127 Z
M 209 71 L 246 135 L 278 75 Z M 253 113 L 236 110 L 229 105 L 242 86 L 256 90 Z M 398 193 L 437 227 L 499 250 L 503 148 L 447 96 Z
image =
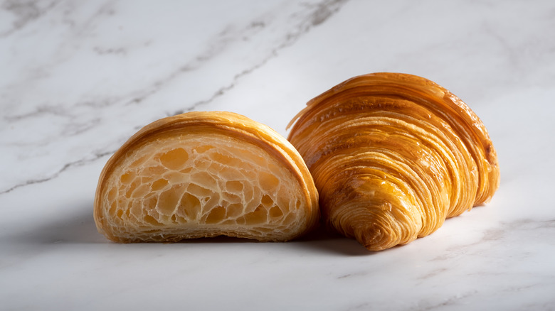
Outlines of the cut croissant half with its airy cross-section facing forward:
M 144 126 L 112 155 L 94 218 L 121 243 L 287 241 L 317 224 L 318 193 L 299 153 L 273 129 L 231 112 L 189 112 Z

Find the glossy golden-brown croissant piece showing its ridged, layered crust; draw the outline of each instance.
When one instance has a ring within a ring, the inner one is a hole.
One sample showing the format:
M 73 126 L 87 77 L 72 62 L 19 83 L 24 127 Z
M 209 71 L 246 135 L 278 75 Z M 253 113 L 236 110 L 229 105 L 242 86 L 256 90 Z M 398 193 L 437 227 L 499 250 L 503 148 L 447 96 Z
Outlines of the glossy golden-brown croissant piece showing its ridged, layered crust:
M 324 222 L 371 251 L 427 236 L 499 187 L 482 121 L 423 77 L 351 78 L 292 124 L 288 139 L 312 173 Z

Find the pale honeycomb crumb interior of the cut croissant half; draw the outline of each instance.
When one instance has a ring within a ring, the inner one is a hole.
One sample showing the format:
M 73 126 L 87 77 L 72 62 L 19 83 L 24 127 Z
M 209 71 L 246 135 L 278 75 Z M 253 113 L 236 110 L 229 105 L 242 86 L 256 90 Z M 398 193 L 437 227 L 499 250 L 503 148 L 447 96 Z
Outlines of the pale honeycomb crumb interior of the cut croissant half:
M 268 151 L 216 133 L 149 142 L 108 178 L 100 218 L 118 241 L 277 240 L 302 225 L 307 204 Z

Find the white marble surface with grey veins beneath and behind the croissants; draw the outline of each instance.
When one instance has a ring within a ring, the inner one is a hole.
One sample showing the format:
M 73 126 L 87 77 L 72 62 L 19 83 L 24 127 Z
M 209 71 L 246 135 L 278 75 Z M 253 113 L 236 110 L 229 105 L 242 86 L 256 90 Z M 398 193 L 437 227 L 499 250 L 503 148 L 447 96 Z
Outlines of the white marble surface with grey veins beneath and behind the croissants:
M 0 309 L 554 310 L 554 30 L 553 1 L 2 1 Z M 490 204 L 377 253 L 97 233 L 100 170 L 145 124 L 228 110 L 287 135 L 307 100 L 382 71 L 481 117 Z

